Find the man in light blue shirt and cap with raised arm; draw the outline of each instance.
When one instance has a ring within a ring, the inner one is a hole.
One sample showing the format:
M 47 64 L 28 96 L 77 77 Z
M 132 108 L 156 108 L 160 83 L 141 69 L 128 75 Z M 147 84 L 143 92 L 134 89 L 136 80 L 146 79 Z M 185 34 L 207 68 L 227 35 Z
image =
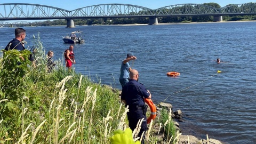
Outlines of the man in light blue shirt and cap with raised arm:
M 127 53 L 126 59 L 121 63 L 119 82 L 122 88 L 129 82 L 129 71 L 131 70 L 129 61 L 137 59 L 132 53 Z

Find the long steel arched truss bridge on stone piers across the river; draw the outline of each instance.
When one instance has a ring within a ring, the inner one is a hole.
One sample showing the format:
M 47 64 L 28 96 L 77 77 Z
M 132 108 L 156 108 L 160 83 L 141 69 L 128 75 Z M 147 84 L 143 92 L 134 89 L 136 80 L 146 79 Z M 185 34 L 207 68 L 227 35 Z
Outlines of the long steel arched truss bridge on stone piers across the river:
M 67 19 L 67 27 L 74 27 L 73 19 L 143 17 L 149 18 L 149 25 L 155 25 L 159 17 L 212 15 L 213 21 L 222 21 L 222 15 L 254 14 L 256 14 L 256 3 L 231 4 L 220 9 L 203 4 L 176 4 L 155 10 L 131 4 L 100 4 L 72 11 L 39 4 L 0 4 L 0 21 Z

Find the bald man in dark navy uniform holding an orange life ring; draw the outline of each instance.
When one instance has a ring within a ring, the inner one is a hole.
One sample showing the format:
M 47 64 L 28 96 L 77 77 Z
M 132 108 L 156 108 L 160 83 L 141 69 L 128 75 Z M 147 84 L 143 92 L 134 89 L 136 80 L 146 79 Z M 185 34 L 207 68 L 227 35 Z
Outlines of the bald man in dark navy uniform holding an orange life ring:
M 125 103 L 125 106 L 129 106 L 127 117 L 132 131 L 136 128 L 139 120 L 144 118 L 138 135 L 138 137 L 141 138 L 142 136 L 144 138 L 145 136 L 142 133 L 147 131 L 147 105 L 145 105 L 143 98 L 151 99 L 151 93 L 146 90 L 143 84 L 138 83 L 139 76 L 137 70 L 132 69 L 130 71 L 130 81 L 122 89 L 121 100 Z

